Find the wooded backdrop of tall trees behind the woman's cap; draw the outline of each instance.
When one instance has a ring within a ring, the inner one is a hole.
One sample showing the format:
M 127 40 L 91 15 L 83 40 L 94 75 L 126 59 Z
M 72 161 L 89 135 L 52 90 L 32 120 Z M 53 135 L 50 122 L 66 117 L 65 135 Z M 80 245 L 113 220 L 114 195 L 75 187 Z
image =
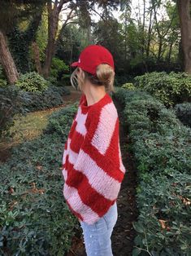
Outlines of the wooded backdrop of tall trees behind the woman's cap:
M 189 1 L 2 1 L 3 72 L 10 83 L 33 71 L 48 78 L 54 56 L 70 65 L 89 44 L 111 51 L 124 81 L 151 71 L 189 72 L 188 8 Z

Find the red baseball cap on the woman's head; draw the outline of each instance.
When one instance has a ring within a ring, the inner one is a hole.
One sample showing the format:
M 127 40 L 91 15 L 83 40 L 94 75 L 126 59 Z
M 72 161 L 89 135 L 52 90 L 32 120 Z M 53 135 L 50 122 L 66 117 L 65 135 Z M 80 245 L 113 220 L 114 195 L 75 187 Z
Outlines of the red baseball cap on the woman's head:
M 104 46 L 90 45 L 85 47 L 80 53 L 79 60 L 71 64 L 72 67 L 80 67 L 81 69 L 96 74 L 96 68 L 99 64 L 109 64 L 114 70 L 114 60 L 111 52 Z

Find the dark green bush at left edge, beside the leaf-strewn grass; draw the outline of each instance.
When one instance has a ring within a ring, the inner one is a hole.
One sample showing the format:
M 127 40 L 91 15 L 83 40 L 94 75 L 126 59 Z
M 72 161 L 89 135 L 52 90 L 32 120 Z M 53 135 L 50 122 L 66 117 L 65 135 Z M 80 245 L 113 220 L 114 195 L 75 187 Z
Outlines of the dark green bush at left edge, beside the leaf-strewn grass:
M 10 136 L 10 127 L 14 125 L 15 115 L 18 118 L 24 113 L 23 98 L 20 89 L 15 86 L 0 87 L 0 138 Z

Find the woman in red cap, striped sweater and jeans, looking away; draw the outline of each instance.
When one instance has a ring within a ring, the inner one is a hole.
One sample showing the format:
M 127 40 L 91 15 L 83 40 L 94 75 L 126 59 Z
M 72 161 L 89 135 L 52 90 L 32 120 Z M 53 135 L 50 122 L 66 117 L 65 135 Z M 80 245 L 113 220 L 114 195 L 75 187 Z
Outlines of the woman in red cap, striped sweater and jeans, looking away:
M 118 218 L 117 196 L 125 168 L 119 146 L 119 118 L 111 52 L 87 46 L 72 73 L 80 104 L 63 152 L 63 196 L 82 227 L 88 256 L 111 256 L 111 233 Z

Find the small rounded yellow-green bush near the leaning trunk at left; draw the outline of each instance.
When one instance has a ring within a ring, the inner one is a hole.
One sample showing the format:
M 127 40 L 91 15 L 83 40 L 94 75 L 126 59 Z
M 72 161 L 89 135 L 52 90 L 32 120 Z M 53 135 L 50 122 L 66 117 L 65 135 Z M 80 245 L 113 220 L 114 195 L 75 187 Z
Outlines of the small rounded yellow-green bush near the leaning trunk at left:
M 19 86 L 20 89 L 26 91 L 41 92 L 47 89 L 49 82 L 47 82 L 38 73 L 31 72 L 22 74 L 19 81 L 16 82 L 16 86 Z

